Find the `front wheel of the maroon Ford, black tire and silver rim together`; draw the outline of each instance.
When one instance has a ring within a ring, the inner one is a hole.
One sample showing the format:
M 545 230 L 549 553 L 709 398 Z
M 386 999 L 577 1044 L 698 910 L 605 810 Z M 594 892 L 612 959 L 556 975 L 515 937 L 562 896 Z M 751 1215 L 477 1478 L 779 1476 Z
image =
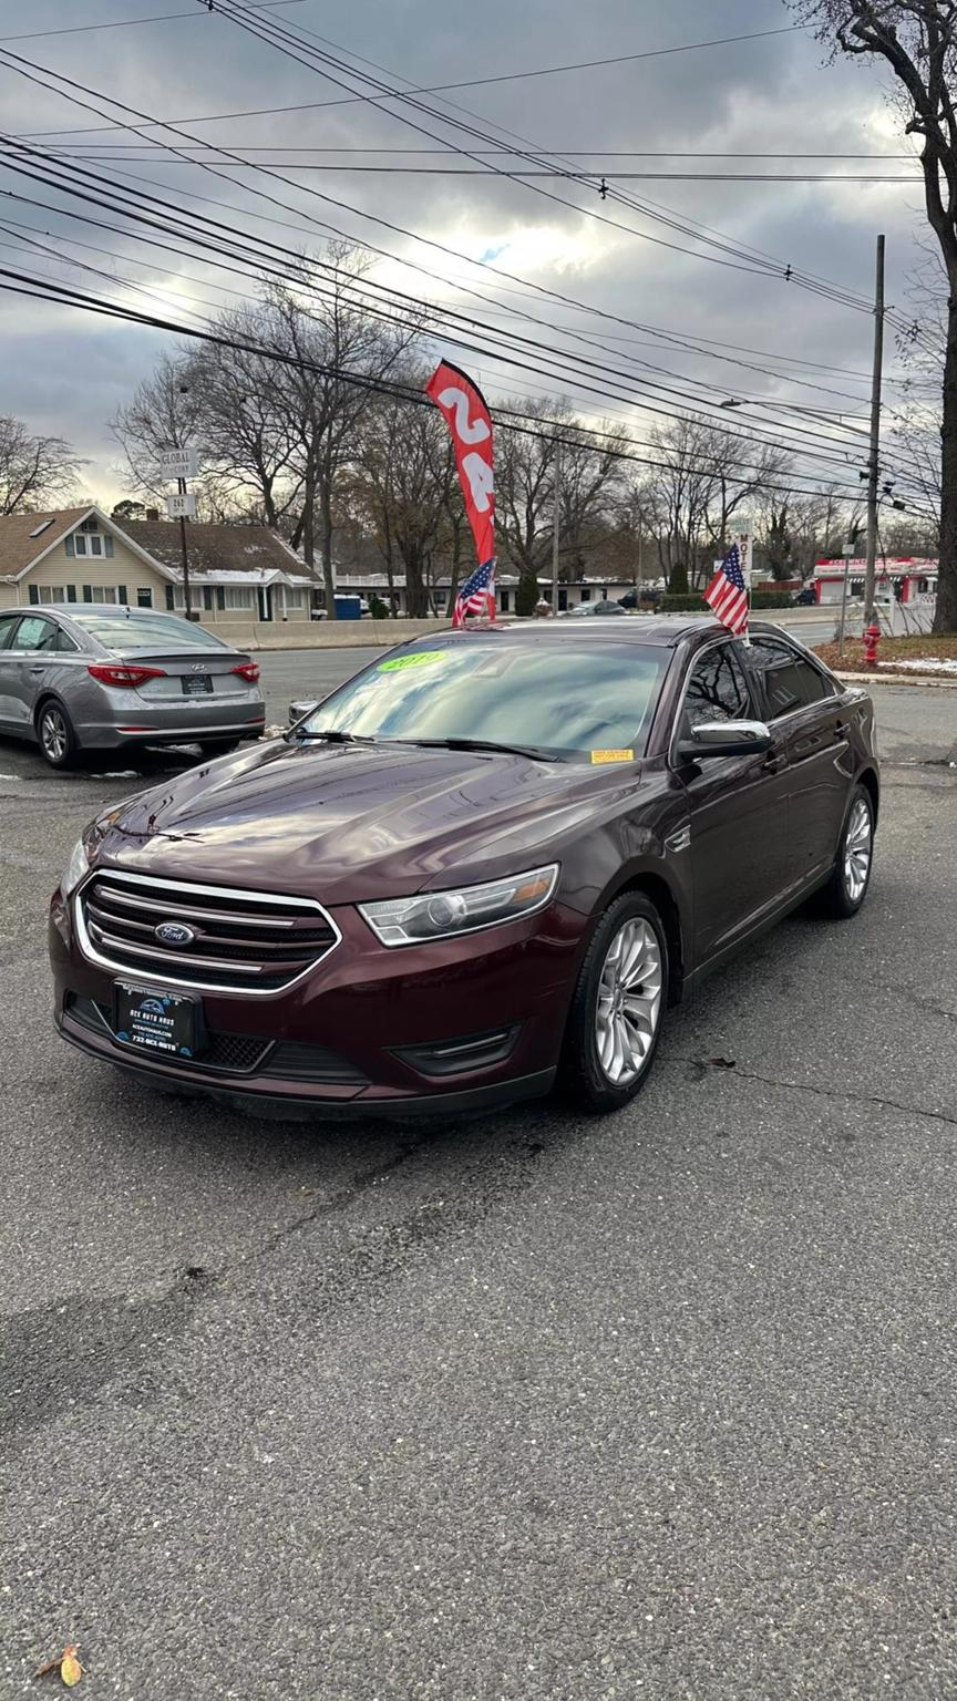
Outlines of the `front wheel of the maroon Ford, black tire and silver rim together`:
M 601 917 L 576 983 L 559 1082 L 593 1116 L 620 1111 L 654 1063 L 668 1002 L 668 939 L 644 893 Z

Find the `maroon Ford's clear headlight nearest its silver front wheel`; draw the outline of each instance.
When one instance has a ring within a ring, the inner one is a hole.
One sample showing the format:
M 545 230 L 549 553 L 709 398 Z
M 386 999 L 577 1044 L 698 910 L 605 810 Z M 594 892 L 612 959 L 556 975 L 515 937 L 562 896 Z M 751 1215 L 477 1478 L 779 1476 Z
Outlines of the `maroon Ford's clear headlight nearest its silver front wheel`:
M 478 927 L 497 927 L 521 915 L 545 908 L 559 864 L 533 868 L 526 874 L 509 874 L 485 886 L 461 886 L 458 891 L 422 891 L 415 898 L 388 898 L 385 903 L 359 903 L 370 927 L 383 946 L 415 946 L 426 939 L 455 939 Z

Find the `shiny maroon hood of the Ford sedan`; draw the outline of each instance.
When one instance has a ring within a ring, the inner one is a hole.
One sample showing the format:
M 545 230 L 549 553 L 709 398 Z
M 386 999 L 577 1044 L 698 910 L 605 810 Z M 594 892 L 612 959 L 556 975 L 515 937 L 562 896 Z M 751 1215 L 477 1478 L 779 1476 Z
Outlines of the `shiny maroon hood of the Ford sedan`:
M 261 743 L 100 816 L 97 862 L 359 903 L 560 859 L 639 771 L 412 745 Z

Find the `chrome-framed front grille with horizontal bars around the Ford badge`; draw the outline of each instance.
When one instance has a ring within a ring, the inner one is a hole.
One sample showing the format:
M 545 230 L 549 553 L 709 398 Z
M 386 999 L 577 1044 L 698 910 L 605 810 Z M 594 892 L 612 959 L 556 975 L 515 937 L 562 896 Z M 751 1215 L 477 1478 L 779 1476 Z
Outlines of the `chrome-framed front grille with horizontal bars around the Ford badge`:
M 160 942 L 162 922 L 181 922 L 192 939 Z M 291 987 L 339 942 L 315 898 L 106 869 L 80 890 L 77 925 L 85 954 L 123 975 L 252 995 Z

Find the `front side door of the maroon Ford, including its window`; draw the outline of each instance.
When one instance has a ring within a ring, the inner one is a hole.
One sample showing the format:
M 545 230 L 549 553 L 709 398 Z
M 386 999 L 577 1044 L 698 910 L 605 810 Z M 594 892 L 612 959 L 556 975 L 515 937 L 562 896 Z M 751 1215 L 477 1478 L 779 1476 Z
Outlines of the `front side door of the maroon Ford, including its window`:
M 673 743 L 703 721 L 759 720 L 741 645 L 722 638 L 688 668 Z M 782 900 L 787 885 L 787 755 L 775 742 L 754 755 L 676 762 L 690 813 L 695 958 L 731 949 Z

